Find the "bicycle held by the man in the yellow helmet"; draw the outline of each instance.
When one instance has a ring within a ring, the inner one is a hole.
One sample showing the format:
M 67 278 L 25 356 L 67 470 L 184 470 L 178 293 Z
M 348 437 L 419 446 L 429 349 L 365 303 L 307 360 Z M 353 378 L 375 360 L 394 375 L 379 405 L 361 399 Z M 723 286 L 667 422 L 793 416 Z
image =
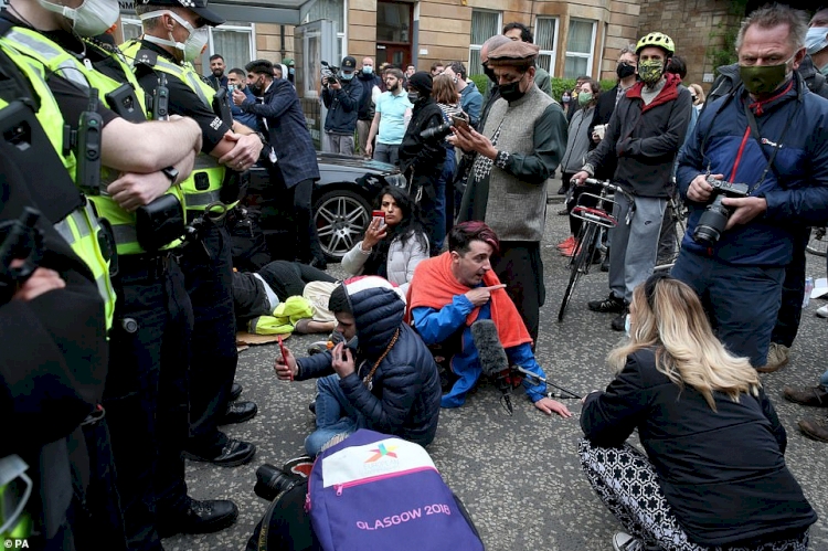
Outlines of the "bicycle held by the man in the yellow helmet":
M 570 280 L 566 284 L 566 290 L 563 294 L 561 309 L 558 311 L 558 321 L 563 321 L 563 315 L 566 311 L 566 306 L 570 304 L 577 280 L 582 275 L 590 273 L 590 266 L 592 265 L 592 261 L 595 257 L 597 247 L 599 246 L 598 242 L 602 231 L 618 225 L 618 221 L 615 220 L 615 216 L 611 213 L 613 210 L 612 206 L 616 203 L 616 193 L 624 197 L 631 206 L 627 212 L 627 220 L 624 223 L 628 224 L 635 212 L 633 195 L 624 191 L 619 186 L 616 186 L 608 180 L 602 181 L 594 178 L 587 178 L 584 180 L 584 183 L 599 186 L 602 189 L 601 193 L 597 195 L 594 193 L 582 193 L 578 198 L 578 202 L 585 197 L 597 199 L 598 202 L 595 206 L 577 204 L 572 209 L 571 214 L 581 219 L 584 223 L 581 225 L 581 230 L 578 230 L 577 236 L 575 237 L 578 246 L 575 250 L 575 254 L 573 254 L 570 259 Z M 609 192 L 612 192 L 613 195 L 609 195 Z

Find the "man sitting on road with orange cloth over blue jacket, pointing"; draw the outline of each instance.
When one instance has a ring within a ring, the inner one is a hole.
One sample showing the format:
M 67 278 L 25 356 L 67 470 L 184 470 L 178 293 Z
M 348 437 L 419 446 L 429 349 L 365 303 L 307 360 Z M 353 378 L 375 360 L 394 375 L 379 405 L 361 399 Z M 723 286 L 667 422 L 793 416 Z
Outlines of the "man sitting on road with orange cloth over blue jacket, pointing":
M 506 349 L 509 363 L 545 379 L 532 352 L 532 339 L 509 295 L 491 269 L 489 258 L 498 252 L 495 232 L 482 222 L 463 222 L 448 235 L 448 251 L 423 261 L 408 288 L 410 317 L 426 345 L 440 345 L 454 379 L 440 406 L 459 407 L 482 373 L 480 356 L 471 339 L 470 326 L 491 319 Z M 535 407 L 562 417 L 572 415 L 560 402 L 546 396 L 543 382 L 523 380 L 527 395 Z

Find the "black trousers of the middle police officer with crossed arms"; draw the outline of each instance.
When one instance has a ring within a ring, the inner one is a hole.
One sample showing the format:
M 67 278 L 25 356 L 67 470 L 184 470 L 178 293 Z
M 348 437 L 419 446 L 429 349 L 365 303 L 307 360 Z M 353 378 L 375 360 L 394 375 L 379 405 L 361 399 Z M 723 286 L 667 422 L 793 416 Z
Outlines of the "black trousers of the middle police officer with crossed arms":
M 156 507 L 187 496 L 188 359 L 193 327 L 171 258 L 119 258 L 103 405 L 130 550 L 160 550 Z

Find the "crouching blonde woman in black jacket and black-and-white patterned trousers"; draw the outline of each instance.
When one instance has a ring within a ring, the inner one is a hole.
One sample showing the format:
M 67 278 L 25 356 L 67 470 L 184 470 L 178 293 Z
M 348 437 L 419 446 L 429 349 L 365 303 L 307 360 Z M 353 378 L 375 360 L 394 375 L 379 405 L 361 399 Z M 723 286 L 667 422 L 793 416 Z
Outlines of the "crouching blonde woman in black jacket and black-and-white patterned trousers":
M 817 516 L 785 466 L 785 430 L 750 361 L 665 274 L 633 293 L 606 391 L 584 399 L 581 464 L 629 533 L 616 551 L 799 551 Z M 647 455 L 626 439 L 638 428 Z

